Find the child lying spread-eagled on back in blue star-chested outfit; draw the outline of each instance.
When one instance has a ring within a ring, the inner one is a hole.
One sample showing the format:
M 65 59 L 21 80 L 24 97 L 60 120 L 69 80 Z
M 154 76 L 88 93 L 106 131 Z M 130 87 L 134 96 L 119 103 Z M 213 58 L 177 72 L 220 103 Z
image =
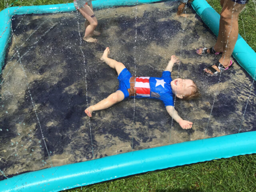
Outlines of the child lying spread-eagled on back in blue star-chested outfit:
M 110 50 L 107 47 L 100 59 L 116 70 L 119 88 L 106 99 L 86 108 L 84 112 L 89 117 L 92 116 L 92 112 L 109 108 L 125 98 L 134 96 L 139 98 L 148 97 L 162 100 L 168 114 L 178 122 L 183 129 L 192 128 L 193 123 L 183 120 L 174 109 L 172 93 L 175 93 L 178 98 L 188 100 L 198 97 L 199 92 L 196 84 L 190 79 L 178 78 L 172 80 L 172 67 L 174 63 L 178 62 L 176 56 L 171 56 L 171 60 L 166 69 L 162 72 L 162 77 L 135 77 L 130 74 L 124 64 L 108 58 L 109 53 Z

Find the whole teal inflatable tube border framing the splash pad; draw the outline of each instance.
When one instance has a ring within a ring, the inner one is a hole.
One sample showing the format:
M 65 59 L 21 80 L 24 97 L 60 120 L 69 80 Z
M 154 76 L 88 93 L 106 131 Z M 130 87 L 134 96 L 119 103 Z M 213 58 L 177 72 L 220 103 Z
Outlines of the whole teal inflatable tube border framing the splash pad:
M 95 8 L 103 8 L 149 2 L 153 1 L 129 0 L 121 2 L 116 0 L 96 0 L 93 1 L 93 6 Z M 210 21 L 212 17 L 215 21 L 218 20 L 215 19 L 216 12 L 209 7 L 208 3 L 204 0 L 194 0 L 192 6 L 204 22 L 208 23 L 210 28 L 212 26 L 213 31 L 216 30 L 218 32 L 218 22 L 213 24 L 214 22 Z M 0 12 L 0 18 L 4 16 L 4 22 L 9 22 L 13 14 L 68 12 L 73 10 L 73 4 L 16 7 L 3 10 L 2 12 L 4 13 Z M 209 12 L 207 13 L 206 10 Z M 2 26 L 3 23 L 0 21 L 0 24 Z M 10 27 L 10 23 L 8 25 Z M 10 33 L 8 26 L 3 27 L 1 39 L 7 37 L 6 42 L 8 42 L 8 38 L 10 38 L 8 33 Z M 242 46 L 244 45 L 242 42 L 237 43 L 236 46 L 240 47 L 241 44 Z M 2 41 L 0 45 L 3 45 Z M 245 48 L 241 47 L 240 49 L 244 50 Z M 241 52 L 235 53 L 239 57 L 242 55 Z M 253 54 L 255 55 L 255 52 Z M 246 61 L 248 56 L 245 55 Z M 238 58 L 238 60 L 244 61 L 242 58 Z M 253 65 L 249 68 L 255 69 L 255 66 Z M 255 74 L 255 72 L 252 74 Z M 256 131 L 183 142 L 28 172 L 0 181 L 0 189 L 2 192 L 58 192 L 132 174 L 252 153 L 256 153 Z

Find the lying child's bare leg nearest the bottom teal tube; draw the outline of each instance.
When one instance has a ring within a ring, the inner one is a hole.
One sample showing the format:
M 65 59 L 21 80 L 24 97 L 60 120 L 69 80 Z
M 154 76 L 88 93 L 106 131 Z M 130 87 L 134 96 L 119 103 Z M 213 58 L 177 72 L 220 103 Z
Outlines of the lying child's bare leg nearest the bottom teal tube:
M 124 94 L 122 91 L 117 90 L 116 92 L 108 96 L 106 99 L 101 100 L 97 104 L 88 107 L 86 110 L 84 110 L 84 112 L 87 116 L 91 117 L 92 112 L 109 108 L 122 100 L 124 100 Z

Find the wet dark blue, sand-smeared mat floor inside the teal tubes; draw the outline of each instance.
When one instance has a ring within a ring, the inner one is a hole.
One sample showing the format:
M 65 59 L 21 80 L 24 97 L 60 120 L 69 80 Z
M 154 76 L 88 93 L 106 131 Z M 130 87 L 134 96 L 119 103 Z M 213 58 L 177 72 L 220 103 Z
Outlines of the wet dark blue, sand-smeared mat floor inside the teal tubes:
M 77 12 L 16 15 L 0 86 L 0 180 L 50 166 L 209 137 L 256 130 L 256 90 L 236 63 L 221 76 L 202 74 L 220 56 L 199 56 L 216 37 L 195 14 L 177 17 L 178 2 L 96 10 L 97 43 L 82 40 Z M 172 79 L 189 78 L 202 96 L 175 99 L 182 130 L 154 99 L 127 99 L 86 117 L 86 107 L 118 89 L 117 74 L 100 61 L 124 63 L 137 76 L 160 77 L 171 55 Z M 253 84 L 254 83 L 254 84 Z M 247 104 L 248 102 L 248 104 Z M 246 105 L 247 104 L 247 105 Z M 246 108 L 246 111 L 245 111 Z

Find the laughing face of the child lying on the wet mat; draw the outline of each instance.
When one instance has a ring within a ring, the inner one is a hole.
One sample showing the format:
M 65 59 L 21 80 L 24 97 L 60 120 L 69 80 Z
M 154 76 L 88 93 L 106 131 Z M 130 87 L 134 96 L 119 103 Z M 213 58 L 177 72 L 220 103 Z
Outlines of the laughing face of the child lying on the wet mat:
M 171 81 L 172 92 L 174 94 L 189 96 L 192 94 L 194 84 L 190 79 L 174 79 Z

